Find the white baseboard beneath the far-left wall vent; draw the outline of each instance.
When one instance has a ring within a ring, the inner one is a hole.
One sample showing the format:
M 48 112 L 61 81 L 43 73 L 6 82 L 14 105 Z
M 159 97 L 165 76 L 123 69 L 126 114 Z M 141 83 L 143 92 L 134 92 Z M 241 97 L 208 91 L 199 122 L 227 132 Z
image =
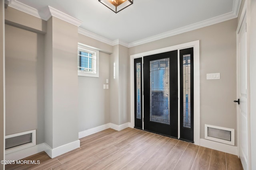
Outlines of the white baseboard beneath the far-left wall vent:
M 20 160 L 20 159 L 26 158 L 30 155 L 42 152 L 42 151 L 45 150 L 45 148 L 46 148 L 46 144 L 41 143 L 41 144 L 36 145 L 34 147 L 30 147 L 30 148 L 27 148 L 27 149 L 19 150 L 17 152 L 6 154 L 5 155 L 5 160 Z

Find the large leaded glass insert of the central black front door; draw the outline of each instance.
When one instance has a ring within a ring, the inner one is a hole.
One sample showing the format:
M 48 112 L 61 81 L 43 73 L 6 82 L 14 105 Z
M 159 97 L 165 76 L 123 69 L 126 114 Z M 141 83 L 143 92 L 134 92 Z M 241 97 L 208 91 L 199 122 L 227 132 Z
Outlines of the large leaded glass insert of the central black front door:
M 170 59 L 150 61 L 150 121 L 170 125 Z

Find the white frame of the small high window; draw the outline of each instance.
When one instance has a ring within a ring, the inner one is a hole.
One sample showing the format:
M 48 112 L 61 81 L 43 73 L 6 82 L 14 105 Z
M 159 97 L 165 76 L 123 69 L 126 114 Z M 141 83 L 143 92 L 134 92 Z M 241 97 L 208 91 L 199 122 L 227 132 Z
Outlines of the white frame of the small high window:
M 93 66 L 92 66 L 92 69 L 94 70 L 93 72 L 77 70 L 78 76 L 99 77 L 99 53 L 100 52 L 96 49 L 89 48 L 82 43 L 78 43 L 78 51 L 84 51 L 86 53 L 91 53 L 93 56 L 93 60 L 96 61 L 96 62 L 93 62 Z M 77 57 L 77 59 L 78 59 L 78 57 Z M 79 62 L 77 62 L 77 63 L 79 63 Z

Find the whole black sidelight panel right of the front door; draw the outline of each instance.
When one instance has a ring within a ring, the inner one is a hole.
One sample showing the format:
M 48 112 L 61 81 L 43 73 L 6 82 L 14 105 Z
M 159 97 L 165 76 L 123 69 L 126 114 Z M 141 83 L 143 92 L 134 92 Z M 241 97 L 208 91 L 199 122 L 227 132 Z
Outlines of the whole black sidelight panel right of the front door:
M 194 141 L 193 48 L 180 50 L 180 139 Z

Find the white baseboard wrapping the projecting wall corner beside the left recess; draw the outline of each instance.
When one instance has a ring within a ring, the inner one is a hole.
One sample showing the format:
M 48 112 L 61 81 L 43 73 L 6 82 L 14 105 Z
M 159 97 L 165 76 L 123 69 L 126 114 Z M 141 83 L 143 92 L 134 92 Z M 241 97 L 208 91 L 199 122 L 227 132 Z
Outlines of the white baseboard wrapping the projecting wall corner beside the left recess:
M 45 144 L 46 148 L 45 148 L 45 152 L 51 157 L 51 158 L 55 158 L 56 156 L 60 156 L 61 154 L 64 154 L 66 152 L 69 152 L 71 150 L 77 149 L 80 147 L 80 140 L 71 142 L 71 143 L 67 143 L 65 145 L 62 145 L 60 147 L 54 148 L 52 149 L 51 147 L 49 147 L 49 145 Z

